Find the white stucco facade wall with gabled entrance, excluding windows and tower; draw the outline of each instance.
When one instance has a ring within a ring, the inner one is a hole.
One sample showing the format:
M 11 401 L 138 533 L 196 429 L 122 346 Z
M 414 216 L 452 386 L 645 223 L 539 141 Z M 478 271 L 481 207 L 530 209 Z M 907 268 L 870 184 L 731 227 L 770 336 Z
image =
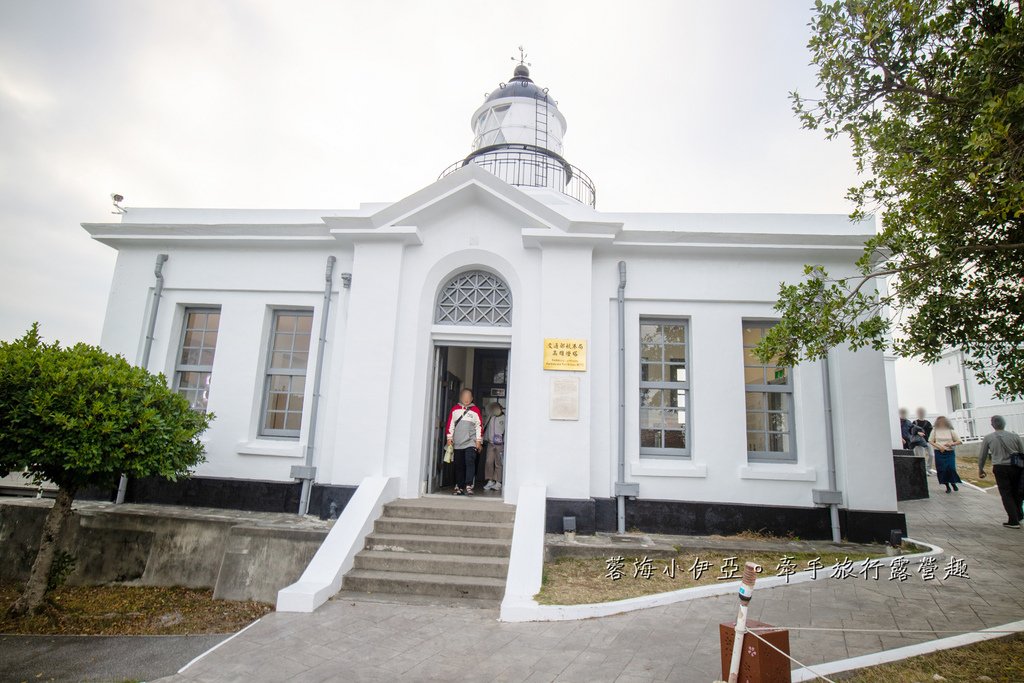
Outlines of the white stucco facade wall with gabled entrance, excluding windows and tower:
M 749 464 L 741 325 L 771 318 L 778 283 L 800 279 L 804 263 L 823 263 L 833 272 L 849 269 L 859 254 L 857 234 L 870 227 L 838 217 L 787 221 L 772 215 L 759 222 L 752 216 L 602 215 L 579 205 L 546 207 L 484 176 L 463 169 L 391 207 L 323 212 L 334 219 L 318 227 L 307 213 L 296 214 L 291 220 L 302 227 L 294 232 L 281 212 L 263 220 L 259 212 L 221 219 L 215 211 L 191 211 L 185 214 L 189 227 L 177 232 L 173 210 L 142 212 L 144 230 L 88 226 L 120 249 L 102 344 L 137 360 L 154 259 L 168 253 L 150 368 L 171 375 L 186 305 L 221 307 L 210 392 L 217 420 L 208 435 L 208 462 L 198 473 L 289 480 L 290 466 L 303 456 L 308 410 L 299 439 L 258 438 L 270 312 L 275 306 L 312 308 L 315 332 L 324 267 L 333 254 L 336 273 L 351 272 L 352 285 L 343 289 L 336 276 L 318 481 L 354 485 L 367 476 L 398 477 L 400 496 L 418 496 L 430 438 L 433 344 L 467 344 L 511 349 L 505 489 L 537 484 L 551 498 L 607 498 L 615 479 L 617 430 L 616 263 L 625 260 L 627 476 L 640 483 L 641 498 L 810 506 L 811 489 L 827 487 L 820 367 L 794 371 L 797 461 Z M 175 239 L 183 232 L 197 237 Z M 218 237 L 199 237 L 211 232 Z M 510 328 L 433 324 L 439 288 L 474 268 L 508 284 Z M 684 317 L 690 325 L 689 459 L 639 454 L 643 315 Z M 579 421 L 548 417 L 550 381 L 557 373 L 543 370 L 545 337 L 590 343 L 589 369 L 575 374 Z M 313 347 L 306 405 L 314 357 Z M 883 357 L 837 351 L 833 364 L 839 478 L 847 505 L 894 510 L 892 477 L 880 476 L 892 468 Z

